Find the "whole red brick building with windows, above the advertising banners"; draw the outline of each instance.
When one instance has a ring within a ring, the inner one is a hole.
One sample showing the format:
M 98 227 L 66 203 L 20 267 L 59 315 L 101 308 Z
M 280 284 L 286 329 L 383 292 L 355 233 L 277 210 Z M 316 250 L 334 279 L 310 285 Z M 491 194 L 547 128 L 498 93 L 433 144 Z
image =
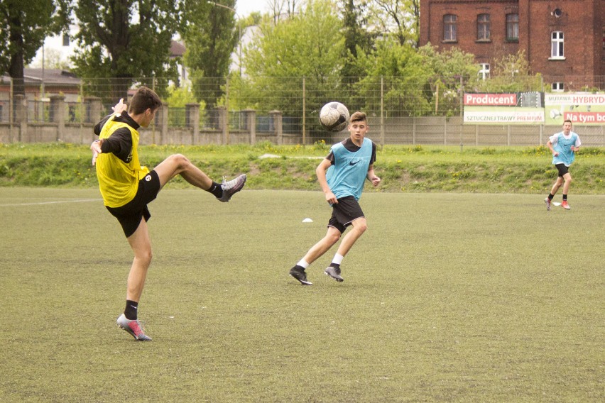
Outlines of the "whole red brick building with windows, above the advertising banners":
M 605 0 L 420 0 L 420 45 L 475 55 L 482 74 L 523 50 L 553 90 L 605 89 Z

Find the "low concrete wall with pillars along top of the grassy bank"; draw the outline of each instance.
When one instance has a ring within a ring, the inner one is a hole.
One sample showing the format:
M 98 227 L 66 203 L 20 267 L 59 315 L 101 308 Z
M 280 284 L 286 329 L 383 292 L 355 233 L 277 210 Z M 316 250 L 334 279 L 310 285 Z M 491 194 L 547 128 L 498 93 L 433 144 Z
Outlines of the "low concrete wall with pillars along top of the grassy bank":
M 89 122 L 65 123 L 65 104 L 61 96 L 51 99 L 50 109 L 53 121 L 50 123 L 31 123 L 27 119 L 27 108 L 23 102 L 17 102 L 15 120 L 12 123 L 0 123 L 0 143 L 65 143 L 89 144 L 96 140 L 92 129 L 94 123 L 102 117 L 100 99 L 87 99 L 87 118 Z M 218 128 L 200 128 L 199 106 L 187 106 L 187 127 L 168 127 L 168 112 L 164 107 L 149 128 L 141 128 L 141 145 L 207 145 L 207 144 L 256 144 L 270 141 L 274 144 L 301 144 L 302 133 L 283 133 L 282 116 L 279 111 L 271 111 L 273 131 L 256 131 L 256 111 L 247 110 L 246 129 L 229 130 L 226 127 L 227 111 L 219 109 Z M 560 126 L 484 126 L 462 125 L 459 117 L 419 117 L 386 118 L 381 124 L 380 118 L 369 118 L 368 137 L 378 144 L 420 144 L 420 145 L 545 145 L 548 137 L 561 131 Z M 583 145 L 605 147 L 604 126 L 574 126 Z M 347 131 L 325 133 L 325 142 L 336 143 L 348 136 Z M 307 143 L 313 143 L 305 136 Z

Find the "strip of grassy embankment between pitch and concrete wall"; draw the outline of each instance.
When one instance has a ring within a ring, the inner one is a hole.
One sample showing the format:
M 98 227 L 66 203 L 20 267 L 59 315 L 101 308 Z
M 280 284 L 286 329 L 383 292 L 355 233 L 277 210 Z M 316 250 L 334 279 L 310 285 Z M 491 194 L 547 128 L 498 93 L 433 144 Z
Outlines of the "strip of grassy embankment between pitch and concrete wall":
M 182 153 L 214 180 L 249 175 L 250 189 L 317 190 L 315 167 L 329 146 L 205 145 L 143 146 L 141 162 L 153 167 Z M 263 158 L 273 155 L 273 158 Z M 572 166 L 574 194 L 605 192 L 605 149 L 582 148 Z M 0 144 L 0 186 L 95 187 L 97 178 L 86 145 Z M 377 192 L 544 193 L 557 171 L 541 147 L 387 145 L 378 150 Z M 182 180 L 170 187 L 187 187 Z M 366 191 L 371 191 L 366 187 Z M 372 189 L 374 190 L 374 189 Z

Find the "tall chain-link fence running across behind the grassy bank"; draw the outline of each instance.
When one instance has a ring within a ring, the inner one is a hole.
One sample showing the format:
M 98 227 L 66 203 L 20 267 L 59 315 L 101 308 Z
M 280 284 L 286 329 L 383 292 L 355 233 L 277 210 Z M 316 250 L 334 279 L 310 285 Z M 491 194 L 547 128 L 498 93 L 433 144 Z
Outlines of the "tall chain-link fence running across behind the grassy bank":
M 569 88 L 573 91 L 605 87 L 605 77 L 565 77 L 565 80 L 573 83 Z M 62 97 L 60 107 L 64 109 L 61 115 L 65 124 L 95 123 L 104 114 L 109 114 L 111 106 L 120 98 L 128 100 L 136 87 L 146 85 L 158 92 L 165 102 L 167 113 L 162 124 L 170 131 L 192 128 L 187 107 L 195 104 L 199 106 L 195 118 L 202 131 L 250 131 L 247 116 L 249 111 L 255 111 L 256 132 L 269 133 L 276 130 L 274 112 L 279 111 L 280 131 L 285 136 L 292 136 L 294 143 L 332 140 L 318 119 L 321 107 L 328 101 L 342 102 L 351 113 L 366 112 L 371 136 L 382 144 L 537 144 L 543 143 L 548 133 L 559 129 L 539 125 L 462 124 L 464 92 L 496 92 L 494 89 L 499 92 L 549 92 L 549 81 L 541 76 L 495 78 L 490 82 L 458 76 L 423 80 L 413 77 L 206 77 L 194 79 L 186 87 L 176 87 L 176 82 L 178 79 L 155 77 L 81 79 L 79 84 L 71 85 L 47 83 L 45 93 L 40 92 L 37 85 L 26 83 L 25 114 L 31 124 L 53 123 L 58 114 L 51 107 L 53 98 Z M 0 125 L 8 123 L 11 128 L 17 121 L 17 108 L 11 103 L 11 99 L 15 99 L 12 87 L 0 85 Z M 91 108 L 91 100 L 100 101 L 100 109 Z M 220 109 L 226 111 L 226 128 L 222 128 Z M 574 130 L 584 131 L 594 145 L 605 146 L 602 125 L 575 126 Z M 0 136 L 0 140 L 3 138 L 7 136 Z M 12 141 L 15 136 L 8 138 Z

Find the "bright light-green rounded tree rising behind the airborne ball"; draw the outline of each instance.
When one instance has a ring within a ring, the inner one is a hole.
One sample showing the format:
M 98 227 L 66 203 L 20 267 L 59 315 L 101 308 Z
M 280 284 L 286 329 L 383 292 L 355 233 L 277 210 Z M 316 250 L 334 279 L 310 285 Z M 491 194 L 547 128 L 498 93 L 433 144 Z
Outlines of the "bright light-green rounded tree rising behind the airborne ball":
M 307 110 L 332 101 L 341 84 L 344 54 L 342 21 L 336 4 L 328 0 L 308 1 L 305 9 L 276 25 L 266 19 L 260 30 L 253 46 L 244 51 L 242 105 L 301 116 L 301 77 L 308 88 L 320 89 L 306 94 Z

